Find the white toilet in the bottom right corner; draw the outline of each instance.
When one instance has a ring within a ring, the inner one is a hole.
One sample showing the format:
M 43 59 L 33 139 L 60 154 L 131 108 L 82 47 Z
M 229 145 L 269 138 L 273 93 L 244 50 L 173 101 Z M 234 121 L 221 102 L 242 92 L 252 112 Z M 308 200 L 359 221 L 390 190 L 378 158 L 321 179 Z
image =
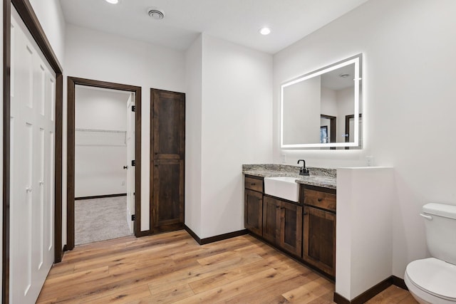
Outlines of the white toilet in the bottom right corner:
M 419 303 L 456 303 L 456 206 L 425 204 L 426 241 L 432 258 L 413 261 L 404 281 Z

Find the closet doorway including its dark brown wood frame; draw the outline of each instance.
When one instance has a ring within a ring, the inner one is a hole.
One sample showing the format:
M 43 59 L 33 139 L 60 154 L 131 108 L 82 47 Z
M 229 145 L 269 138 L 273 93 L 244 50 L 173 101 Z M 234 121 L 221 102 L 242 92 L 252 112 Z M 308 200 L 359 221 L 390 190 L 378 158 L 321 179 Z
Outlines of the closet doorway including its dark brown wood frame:
M 140 87 L 68 77 L 68 250 L 138 236 L 140 100 Z

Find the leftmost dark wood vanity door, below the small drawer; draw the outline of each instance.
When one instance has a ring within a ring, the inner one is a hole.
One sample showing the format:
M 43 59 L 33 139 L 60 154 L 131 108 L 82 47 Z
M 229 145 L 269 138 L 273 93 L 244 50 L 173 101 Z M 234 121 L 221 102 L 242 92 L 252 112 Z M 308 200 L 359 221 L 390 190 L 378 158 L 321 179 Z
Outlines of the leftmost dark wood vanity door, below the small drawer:
M 259 236 L 263 235 L 263 194 L 245 189 L 244 226 Z

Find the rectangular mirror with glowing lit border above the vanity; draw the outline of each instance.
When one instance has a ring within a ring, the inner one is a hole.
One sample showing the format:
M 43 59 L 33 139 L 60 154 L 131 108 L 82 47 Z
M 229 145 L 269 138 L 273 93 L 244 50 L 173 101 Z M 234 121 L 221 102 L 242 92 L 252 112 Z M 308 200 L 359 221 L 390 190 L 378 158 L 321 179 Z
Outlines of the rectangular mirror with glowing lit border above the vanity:
M 281 85 L 281 148 L 361 149 L 362 54 Z

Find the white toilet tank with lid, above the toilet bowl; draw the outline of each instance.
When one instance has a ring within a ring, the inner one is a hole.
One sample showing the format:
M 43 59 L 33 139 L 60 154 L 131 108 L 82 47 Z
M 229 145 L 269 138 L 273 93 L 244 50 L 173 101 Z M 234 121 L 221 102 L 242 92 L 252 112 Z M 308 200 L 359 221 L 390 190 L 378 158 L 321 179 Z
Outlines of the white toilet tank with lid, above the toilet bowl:
M 425 204 L 423 214 L 431 256 L 456 265 L 456 206 Z

